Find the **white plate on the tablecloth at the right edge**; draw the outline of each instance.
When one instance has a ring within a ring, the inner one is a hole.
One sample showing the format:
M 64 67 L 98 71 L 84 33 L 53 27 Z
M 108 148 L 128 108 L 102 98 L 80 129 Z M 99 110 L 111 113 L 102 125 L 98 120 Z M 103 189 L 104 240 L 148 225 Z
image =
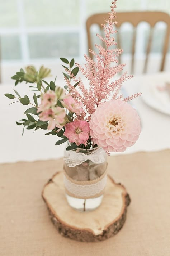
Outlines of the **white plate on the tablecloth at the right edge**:
M 170 95 L 167 91 L 159 91 L 158 83 L 149 83 L 142 86 L 142 99 L 151 108 L 170 115 Z

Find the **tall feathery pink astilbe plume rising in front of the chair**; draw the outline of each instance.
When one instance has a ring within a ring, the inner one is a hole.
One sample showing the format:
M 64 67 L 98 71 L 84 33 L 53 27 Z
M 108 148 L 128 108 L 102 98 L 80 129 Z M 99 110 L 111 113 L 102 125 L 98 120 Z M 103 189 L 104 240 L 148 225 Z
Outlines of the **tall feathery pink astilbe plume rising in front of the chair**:
M 71 85 L 69 79 L 65 79 L 72 97 L 75 100 L 80 100 L 84 104 L 86 113 L 88 114 L 88 120 L 90 120 L 91 114 L 93 114 L 100 103 L 103 103 L 111 98 L 123 100 L 123 95 L 119 96 L 122 83 L 133 77 L 127 75 L 127 72 L 125 72 L 117 80 L 113 81 L 113 78 L 119 74 L 125 66 L 125 64 L 117 64 L 118 57 L 123 50 L 118 48 L 110 48 L 113 45 L 117 45 L 112 36 L 114 33 L 117 33 L 117 31 L 113 29 L 114 25 L 117 24 L 117 21 L 114 20 L 116 1 L 117 0 L 112 2 L 111 12 L 108 13 L 109 17 L 108 19 L 105 19 L 106 24 L 102 24 L 105 37 L 96 34 L 96 36 L 99 37 L 99 39 L 105 44 L 105 47 L 95 44 L 99 54 L 89 49 L 89 52 L 94 55 L 95 60 L 91 59 L 85 54 L 85 67 L 75 63 L 76 66 L 79 67 L 82 74 L 88 78 L 89 90 L 85 89 L 82 81 L 75 88 Z M 72 78 L 75 82 L 79 81 L 75 80 L 75 77 L 73 76 Z M 128 101 L 139 95 L 140 94 L 136 94 L 135 96 L 128 97 L 124 100 Z

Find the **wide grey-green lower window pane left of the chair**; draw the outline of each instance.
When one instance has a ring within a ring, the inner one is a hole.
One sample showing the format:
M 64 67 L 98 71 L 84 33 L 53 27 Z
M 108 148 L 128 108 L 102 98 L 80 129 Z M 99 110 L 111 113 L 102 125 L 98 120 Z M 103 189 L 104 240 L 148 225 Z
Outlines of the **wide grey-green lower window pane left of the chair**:
M 30 58 L 76 57 L 79 55 L 78 33 L 30 34 Z

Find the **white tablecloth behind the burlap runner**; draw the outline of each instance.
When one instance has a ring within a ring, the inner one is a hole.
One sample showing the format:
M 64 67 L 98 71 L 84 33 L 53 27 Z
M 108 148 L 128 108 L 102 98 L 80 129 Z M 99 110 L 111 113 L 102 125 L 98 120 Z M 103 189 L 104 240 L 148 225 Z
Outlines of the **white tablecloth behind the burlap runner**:
M 131 95 L 137 91 L 142 92 L 143 86 L 150 86 L 153 82 L 159 85 L 163 81 L 169 80 L 170 73 L 164 72 L 135 76 L 124 83 L 124 88 Z M 63 81 L 57 81 L 57 83 L 61 85 Z M 0 85 L 0 163 L 62 157 L 65 144 L 55 146 L 58 137 L 43 136 L 47 130 L 39 129 L 33 133 L 33 130 L 25 129 L 24 136 L 22 136 L 23 127 L 16 125 L 15 121 L 24 118 L 24 111 L 31 105 L 23 106 L 19 102 L 9 105 L 12 100 L 6 98 L 4 94 L 13 94 L 13 88 L 14 85 Z M 25 84 L 17 85 L 15 89 L 21 96 L 34 93 L 29 91 L 28 85 Z M 124 154 L 170 148 L 170 117 L 148 107 L 141 98 L 133 100 L 132 103 L 141 117 L 142 132 L 136 144 L 128 148 Z

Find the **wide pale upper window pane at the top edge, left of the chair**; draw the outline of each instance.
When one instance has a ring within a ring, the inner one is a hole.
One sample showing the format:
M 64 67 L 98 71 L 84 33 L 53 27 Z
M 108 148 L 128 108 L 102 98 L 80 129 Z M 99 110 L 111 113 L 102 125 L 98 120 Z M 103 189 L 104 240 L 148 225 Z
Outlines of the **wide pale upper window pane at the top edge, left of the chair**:
M 79 0 L 24 0 L 26 24 L 27 26 L 78 24 L 79 3 Z

